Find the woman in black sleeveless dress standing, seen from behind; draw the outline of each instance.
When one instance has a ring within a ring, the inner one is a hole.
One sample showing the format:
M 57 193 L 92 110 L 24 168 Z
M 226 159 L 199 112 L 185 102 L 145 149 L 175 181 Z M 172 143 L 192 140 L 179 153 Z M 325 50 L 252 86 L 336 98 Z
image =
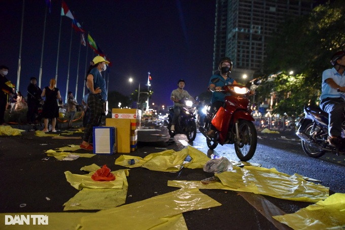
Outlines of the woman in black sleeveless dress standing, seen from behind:
M 48 121 L 52 120 L 52 132 L 56 132 L 56 118 L 59 117 L 59 107 L 57 105 L 57 99 L 62 103 L 60 91 L 55 87 L 56 80 L 50 79 L 49 86 L 45 87 L 42 92 L 42 97 L 46 97 L 46 101 L 43 105 L 42 116 L 44 117 L 44 129 L 43 132 L 49 132 Z

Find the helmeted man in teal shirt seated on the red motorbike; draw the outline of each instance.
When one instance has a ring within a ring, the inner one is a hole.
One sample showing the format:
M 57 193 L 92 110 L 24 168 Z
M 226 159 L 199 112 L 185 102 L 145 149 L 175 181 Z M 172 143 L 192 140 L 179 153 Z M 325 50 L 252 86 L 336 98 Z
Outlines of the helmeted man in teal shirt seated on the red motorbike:
M 223 92 L 219 92 L 216 90 L 221 90 L 224 85 L 231 85 L 237 84 L 237 82 L 229 77 L 229 74 L 232 70 L 232 61 L 228 57 L 223 57 L 220 59 L 218 64 L 219 72 L 216 72 L 210 79 L 209 88 L 213 92 L 211 98 L 211 112 L 214 113 L 218 111 L 221 106 L 224 106 L 225 103 L 225 96 Z M 220 81 L 213 83 L 212 80 L 215 78 L 219 78 Z M 211 129 L 208 132 L 208 136 L 211 138 L 215 137 L 216 128 L 211 124 Z

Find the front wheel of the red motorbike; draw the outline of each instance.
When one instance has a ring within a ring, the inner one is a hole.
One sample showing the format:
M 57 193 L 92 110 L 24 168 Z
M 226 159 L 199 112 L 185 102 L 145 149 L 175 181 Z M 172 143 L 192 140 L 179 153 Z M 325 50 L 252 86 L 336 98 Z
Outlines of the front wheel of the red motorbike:
M 239 140 L 235 140 L 235 152 L 241 161 L 250 160 L 255 153 L 258 136 L 253 122 L 240 120 L 238 122 Z

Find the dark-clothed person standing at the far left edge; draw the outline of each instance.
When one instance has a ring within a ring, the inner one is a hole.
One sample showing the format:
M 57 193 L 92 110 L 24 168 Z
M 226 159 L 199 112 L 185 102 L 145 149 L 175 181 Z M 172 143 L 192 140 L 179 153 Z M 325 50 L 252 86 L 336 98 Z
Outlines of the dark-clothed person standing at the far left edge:
M 9 95 L 12 96 L 12 87 L 8 86 L 9 80 L 6 75 L 9 68 L 5 65 L 0 65 L 0 125 L 5 124 L 5 110 Z

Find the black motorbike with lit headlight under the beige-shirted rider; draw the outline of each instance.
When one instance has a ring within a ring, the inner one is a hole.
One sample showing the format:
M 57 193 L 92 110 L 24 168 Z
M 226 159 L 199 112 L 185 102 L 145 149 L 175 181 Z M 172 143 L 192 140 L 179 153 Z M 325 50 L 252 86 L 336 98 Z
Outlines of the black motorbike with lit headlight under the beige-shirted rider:
M 196 137 L 196 123 L 195 123 L 195 108 L 192 101 L 182 101 L 184 106 L 181 107 L 181 114 L 178 119 L 178 124 L 175 125 L 175 130 L 171 130 L 171 122 L 174 117 L 174 107 L 169 107 L 168 122 L 164 121 L 168 128 L 170 137 L 176 134 L 184 134 L 188 141 L 194 141 Z

